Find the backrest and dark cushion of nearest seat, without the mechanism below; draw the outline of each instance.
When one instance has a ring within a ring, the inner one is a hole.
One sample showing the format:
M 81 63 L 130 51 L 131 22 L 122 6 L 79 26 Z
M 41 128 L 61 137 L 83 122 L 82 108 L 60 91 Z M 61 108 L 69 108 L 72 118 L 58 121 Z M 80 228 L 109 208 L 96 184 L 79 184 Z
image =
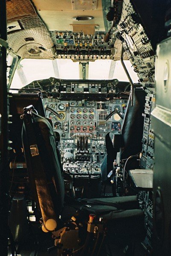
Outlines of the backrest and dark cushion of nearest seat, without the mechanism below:
M 64 174 L 56 154 L 53 127 L 32 107 L 24 108 L 22 141 L 32 197 L 41 213 L 44 229 L 56 229 L 59 216 L 67 220 L 81 207 L 85 216 L 103 217 L 108 243 L 143 240 L 144 214 L 136 196 L 83 199 L 81 202 L 65 198 Z

